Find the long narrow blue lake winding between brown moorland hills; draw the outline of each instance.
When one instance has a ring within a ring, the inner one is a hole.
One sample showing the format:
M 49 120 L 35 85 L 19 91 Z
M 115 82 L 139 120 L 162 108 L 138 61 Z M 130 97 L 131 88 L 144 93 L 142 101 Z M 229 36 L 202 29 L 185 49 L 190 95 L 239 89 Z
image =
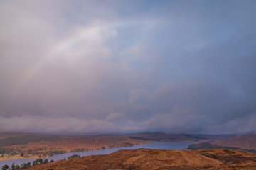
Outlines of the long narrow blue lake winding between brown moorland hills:
M 56 154 L 53 155 L 52 157 L 47 157 L 43 159 L 48 159 L 50 162 L 51 159 L 54 161 L 58 161 L 61 159 L 68 159 L 73 154 L 79 154 L 81 157 L 82 156 L 89 156 L 89 155 L 95 155 L 95 154 L 111 154 L 112 152 L 116 152 L 122 149 L 139 149 L 139 148 L 148 148 L 148 149 L 164 149 L 164 150 L 183 150 L 187 149 L 188 145 L 195 144 L 191 142 L 156 142 L 156 143 L 149 143 L 149 144 L 144 144 L 144 145 L 134 145 L 132 147 L 117 147 L 117 148 L 110 148 L 110 149 L 105 149 L 105 150 L 93 150 L 93 151 L 87 151 L 87 152 L 69 152 L 65 154 Z M 0 161 L 0 168 L 4 166 L 5 164 L 8 164 L 11 166 L 11 164 L 14 162 L 14 164 L 21 165 L 23 163 L 28 163 L 36 159 L 10 159 L 10 160 L 3 160 Z

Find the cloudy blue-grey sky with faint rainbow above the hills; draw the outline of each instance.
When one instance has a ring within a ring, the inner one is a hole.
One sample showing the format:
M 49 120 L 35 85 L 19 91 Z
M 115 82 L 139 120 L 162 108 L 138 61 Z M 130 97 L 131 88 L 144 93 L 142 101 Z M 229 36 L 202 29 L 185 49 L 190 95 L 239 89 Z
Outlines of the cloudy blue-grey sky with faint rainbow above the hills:
M 256 1 L 0 1 L 0 132 L 256 132 Z

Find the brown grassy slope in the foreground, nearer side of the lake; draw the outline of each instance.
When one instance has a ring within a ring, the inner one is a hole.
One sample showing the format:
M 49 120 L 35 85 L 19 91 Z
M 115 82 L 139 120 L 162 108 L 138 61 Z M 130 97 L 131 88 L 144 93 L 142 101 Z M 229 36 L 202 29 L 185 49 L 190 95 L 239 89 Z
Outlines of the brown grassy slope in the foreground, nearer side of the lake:
M 256 169 L 256 154 L 229 149 L 171 151 L 158 149 L 120 150 L 32 166 L 28 170 L 58 169 Z

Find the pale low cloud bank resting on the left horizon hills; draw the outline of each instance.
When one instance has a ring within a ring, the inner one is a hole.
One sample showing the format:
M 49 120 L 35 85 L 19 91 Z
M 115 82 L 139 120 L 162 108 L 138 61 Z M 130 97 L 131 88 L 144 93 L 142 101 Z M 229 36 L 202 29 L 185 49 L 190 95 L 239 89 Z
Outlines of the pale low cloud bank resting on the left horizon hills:
M 117 132 L 117 128 L 113 123 L 103 120 L 86 120 L 74 118 L 70 116 L 62 118 L 52 118 L 46 116 L 14 116 L 11 118 L 1 118 L 2 132 L 18 131 L 18 132 L 50 132 L 50 133 L 92 133 L 92 132 Z

